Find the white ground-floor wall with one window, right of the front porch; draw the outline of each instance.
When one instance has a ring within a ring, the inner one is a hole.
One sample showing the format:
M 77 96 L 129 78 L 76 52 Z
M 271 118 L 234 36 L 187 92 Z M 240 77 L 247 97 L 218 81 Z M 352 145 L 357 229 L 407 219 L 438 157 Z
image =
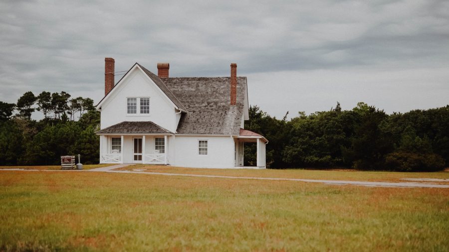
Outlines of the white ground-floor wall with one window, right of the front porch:
M 208 154 L 198 154 L 198 141 L 208 140 Z M 234 167 L 234 140 L 230 136 L 180 136 L 175 138 L 172 165 L 201 168 Z

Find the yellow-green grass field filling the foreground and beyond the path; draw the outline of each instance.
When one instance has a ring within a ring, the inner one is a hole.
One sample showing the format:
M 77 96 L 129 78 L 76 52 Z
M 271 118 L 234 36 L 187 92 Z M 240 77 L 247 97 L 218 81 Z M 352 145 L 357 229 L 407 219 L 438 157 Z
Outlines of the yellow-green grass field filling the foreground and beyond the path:
M 319 179 L 404 177 L 229 172 Z M 0 171 L 0 226 L 0 251 L 449 251 L 449 190 Z

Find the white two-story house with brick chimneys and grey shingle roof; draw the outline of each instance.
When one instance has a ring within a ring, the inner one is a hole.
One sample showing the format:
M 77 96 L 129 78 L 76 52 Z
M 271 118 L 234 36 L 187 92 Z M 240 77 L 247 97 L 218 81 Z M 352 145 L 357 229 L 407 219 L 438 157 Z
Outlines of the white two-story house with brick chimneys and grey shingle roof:
M 167 164 L 184 167 L 243 166 L 244 142 L 256 142 L 257 165 L 265 168 L 260 134 L 244 129 L 248 120 L 246 77 L 169 77 L 135 63 L 114 85 L 114 59 L 105 58 L 100 163 Z

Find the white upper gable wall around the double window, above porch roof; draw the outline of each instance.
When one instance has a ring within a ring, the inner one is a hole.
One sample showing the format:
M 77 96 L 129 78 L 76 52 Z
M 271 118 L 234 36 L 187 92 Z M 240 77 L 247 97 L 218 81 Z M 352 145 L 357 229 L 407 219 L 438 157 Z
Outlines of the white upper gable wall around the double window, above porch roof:
M 101 128 L 124 121 L 151 121 L 172 132 L 176 130 L 175 107 L 159 87 L 140 69 L 134 68 L 101 105 Z M 127 115 L 127 98 L 150 97 L 150 114 Z

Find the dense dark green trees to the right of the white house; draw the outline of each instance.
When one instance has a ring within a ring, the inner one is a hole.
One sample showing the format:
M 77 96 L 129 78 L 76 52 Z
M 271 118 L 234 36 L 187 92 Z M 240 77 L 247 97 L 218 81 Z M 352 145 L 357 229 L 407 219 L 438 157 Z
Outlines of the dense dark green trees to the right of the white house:
M 245 128 L 263 134 L 267 165 L 347 167 L 367 170 L 434 171 L 449 164 L 449 106 L 387 115 L 359 103 L 278 120 L 251 106 Z M 255 147 L 245 147 L 245 164 L 255 162 Z

